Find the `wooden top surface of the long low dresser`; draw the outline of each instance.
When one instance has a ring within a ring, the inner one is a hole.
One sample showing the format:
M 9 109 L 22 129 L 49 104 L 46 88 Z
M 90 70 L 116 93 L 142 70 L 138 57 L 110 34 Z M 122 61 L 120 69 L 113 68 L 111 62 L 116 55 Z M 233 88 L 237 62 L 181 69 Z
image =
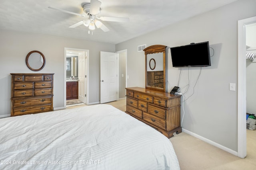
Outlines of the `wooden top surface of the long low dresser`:
M 141 87 L 129 87 L 129 88 L 126 88 L 126 90 L 133 90 L 135 92 L 143 92 L 143 93 L 147 93 L 152 96 L 158 96 L 158 97 L 164 97 L 164 98 L 180 98 L 180 95 L 173 95 L 170 93 L 149 90 L 149 89 L 141 88 Z

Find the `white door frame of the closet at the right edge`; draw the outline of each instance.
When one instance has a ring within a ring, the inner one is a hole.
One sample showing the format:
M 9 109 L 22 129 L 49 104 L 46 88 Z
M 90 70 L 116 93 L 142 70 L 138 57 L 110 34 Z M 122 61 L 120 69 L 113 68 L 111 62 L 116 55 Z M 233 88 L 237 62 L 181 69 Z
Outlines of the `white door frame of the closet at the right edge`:
M 245 26 L 256 22 L 256 16 L 238 20 L 238 157 L 246 157 L 246 29 Z

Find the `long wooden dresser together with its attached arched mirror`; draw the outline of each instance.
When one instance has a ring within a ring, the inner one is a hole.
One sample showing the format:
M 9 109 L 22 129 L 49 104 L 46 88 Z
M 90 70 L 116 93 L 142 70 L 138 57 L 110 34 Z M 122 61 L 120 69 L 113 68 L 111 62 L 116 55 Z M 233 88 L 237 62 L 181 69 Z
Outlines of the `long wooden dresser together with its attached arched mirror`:
M 126 113 L 170 138 L 182 129 L 180 95 L 166 92 L 166 46 L 152 45 L 144 51 L 146 88 L 126 88 Z

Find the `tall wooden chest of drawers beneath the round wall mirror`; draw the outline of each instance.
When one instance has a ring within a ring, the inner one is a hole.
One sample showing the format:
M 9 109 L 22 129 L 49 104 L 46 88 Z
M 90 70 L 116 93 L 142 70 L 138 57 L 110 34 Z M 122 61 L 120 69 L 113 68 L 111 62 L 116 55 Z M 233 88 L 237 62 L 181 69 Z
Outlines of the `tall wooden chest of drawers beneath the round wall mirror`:
M 53 73 L 11 75 L 11 116 L 53 111 Z

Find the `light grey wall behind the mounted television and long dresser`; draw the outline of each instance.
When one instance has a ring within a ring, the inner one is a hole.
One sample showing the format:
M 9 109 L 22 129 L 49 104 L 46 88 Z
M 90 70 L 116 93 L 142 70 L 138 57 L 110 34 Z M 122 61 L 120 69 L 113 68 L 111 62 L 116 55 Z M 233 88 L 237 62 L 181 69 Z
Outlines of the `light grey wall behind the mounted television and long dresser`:
M 178 85 L 180 68 L 173 68 L 170 47 L 209 41 L 214 49 L 212 66 L 182 68 L 179 86 L 190 80 L 185 97 L 182 128 L 237 152 L 237 91 L 229 91 L 229 83 L 237 84 L 238 31 L 237 21 L 256 16 L 255 0 L 238 0 L 216 10 L 180 21 L 152 33 L 116 45 L 116 50 L 127 49 L 127 86 L 145 87 L 144 53 L 137 52 L 140 44 L 166 45 L 168 63 L 167 91 Z M 185 88 L 186 89 L 186 88 Z M 181 92 L 184 93 L 185 89 Z

